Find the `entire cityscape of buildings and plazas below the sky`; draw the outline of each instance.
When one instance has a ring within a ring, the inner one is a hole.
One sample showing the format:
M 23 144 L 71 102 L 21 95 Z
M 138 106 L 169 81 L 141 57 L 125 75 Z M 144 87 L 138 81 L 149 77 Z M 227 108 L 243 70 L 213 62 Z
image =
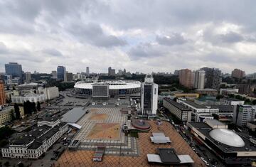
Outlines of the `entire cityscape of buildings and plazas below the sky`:
M 256 74 L 0 73 L 0 166 L 256 166 Z

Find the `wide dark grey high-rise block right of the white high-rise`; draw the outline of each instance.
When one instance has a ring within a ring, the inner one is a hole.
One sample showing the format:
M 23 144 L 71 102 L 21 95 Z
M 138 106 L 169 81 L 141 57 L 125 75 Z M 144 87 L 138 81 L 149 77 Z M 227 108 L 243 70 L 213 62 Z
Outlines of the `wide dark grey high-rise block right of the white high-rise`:
M 218 68 L 201 68 L 201 70 L 204 70 L 206 72 L 205 87 L 218 90 L 220 88 L 221 82 L 221 71 L 218 70 Z

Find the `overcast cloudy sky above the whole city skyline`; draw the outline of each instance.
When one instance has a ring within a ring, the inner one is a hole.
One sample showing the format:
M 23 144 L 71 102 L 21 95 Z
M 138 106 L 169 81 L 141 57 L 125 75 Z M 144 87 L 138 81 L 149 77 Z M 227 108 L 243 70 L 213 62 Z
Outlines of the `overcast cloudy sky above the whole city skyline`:
M 256 72 L 256 1 L 1 0 L 0 72 Z

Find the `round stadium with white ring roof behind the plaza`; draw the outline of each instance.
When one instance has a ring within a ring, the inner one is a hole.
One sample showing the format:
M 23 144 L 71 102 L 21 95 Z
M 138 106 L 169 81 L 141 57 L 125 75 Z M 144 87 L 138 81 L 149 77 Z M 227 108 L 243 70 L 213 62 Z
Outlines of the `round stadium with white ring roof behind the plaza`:
M 84 95 L 107 92 L 106 95 L 127 95 L 138 93 L 141 82 L 136 80 L 83 80 L 75 83 L 75 91 Z M 102 93 L 100 93 L 102 94 Z

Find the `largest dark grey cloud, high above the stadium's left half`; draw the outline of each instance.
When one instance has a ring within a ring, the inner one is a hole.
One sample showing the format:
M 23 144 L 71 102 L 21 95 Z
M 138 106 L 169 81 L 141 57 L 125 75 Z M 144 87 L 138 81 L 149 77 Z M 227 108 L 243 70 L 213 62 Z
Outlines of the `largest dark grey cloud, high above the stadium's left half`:
M 89 42 L 100 47 L 112 47 L 126 45 L 127 41 L 116 36 L 106 35 L 96 23 L 75 23 L 68 27 L 68 31 L 82 42 Z

